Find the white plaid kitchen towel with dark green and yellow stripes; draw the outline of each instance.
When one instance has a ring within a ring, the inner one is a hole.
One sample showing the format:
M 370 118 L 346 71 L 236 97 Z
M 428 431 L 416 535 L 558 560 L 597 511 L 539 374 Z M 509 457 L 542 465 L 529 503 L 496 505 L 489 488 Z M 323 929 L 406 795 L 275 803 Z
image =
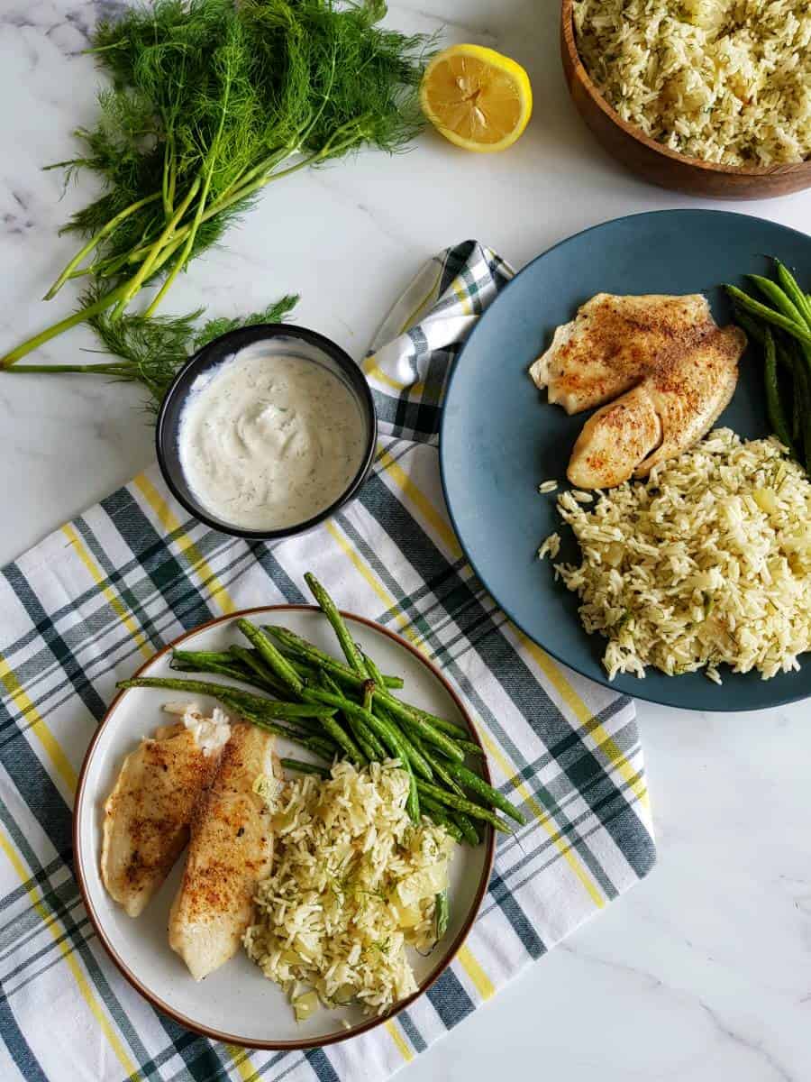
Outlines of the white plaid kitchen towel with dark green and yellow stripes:
M 466 564 L 442 502 L 446 375 L 510 275 L 468 242 L 417 277 L 367 360 L 382 422 L 375 470 L 350 506 L 306 537 L 268 545 L 212 532 L 152 467 L 2 569 L 4 1082 L 382 1080 L 651 868 L 631 702 L 562 669 L 506 620 Z M 306 568 L 342 606 L 439 662 L 479 721 L 495 783 L 529 822 L 500 842 L 456 961 L 407 1012 L 329 1048 L 250 1052 L 163 1017 L 107 959 L 71 871 L 71 805 L 116 679 L 212 617 L 304 601 Z

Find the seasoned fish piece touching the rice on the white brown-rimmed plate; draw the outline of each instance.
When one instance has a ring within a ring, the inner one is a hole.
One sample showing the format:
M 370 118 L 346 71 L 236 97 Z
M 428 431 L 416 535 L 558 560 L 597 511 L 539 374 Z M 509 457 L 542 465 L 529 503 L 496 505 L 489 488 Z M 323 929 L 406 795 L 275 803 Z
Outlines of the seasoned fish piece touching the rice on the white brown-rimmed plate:
M 169 945 L 201 980 L 237 950 L 253 915 L 256 884 L 270 871 L 267 805 L 257 775 L 279 774 L 275 738 L 239 722 L 191 824 L 186 871 L 169 915 Z

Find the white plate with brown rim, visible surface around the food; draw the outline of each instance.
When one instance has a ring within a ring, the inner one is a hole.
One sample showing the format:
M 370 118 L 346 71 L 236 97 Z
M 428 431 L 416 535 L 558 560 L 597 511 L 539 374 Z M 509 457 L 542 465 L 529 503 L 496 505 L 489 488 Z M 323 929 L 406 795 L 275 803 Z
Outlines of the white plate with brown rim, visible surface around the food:
M 203 624 L 167 646 L 139 670 L 139 676 L 178 675 L 170 669 L 171 648 L 226 649 L 241 641 L 234 626 L 247 616 L 253 622 L 283 623 L 317 646 L 336 654 L 332 630 L 318 609 L 277 605 L 249 609 Z M 353 637 L 383 672 L 404 679 L 401 695 L 431 713 L 448 717 L 470 731 L 475 727 L 448 681 L 410 643 L 362 617 L 344 613 Z M 202 676 L 203 679 L 221 677 Z M 402 1011 L 422 995 L 448 967 L 462 947 L 483 900 L 493 863 L 494 837 L 490 827 L 483 842 L 456 846 L 450 870 L 450 924 L 443 939 L 426 958 L 411 951 L 418 991 L 402 1000 L 388 1015 L 364 1016 L 350 1004 L 319 1010 L 305 1022 L 296 1022 L 282 990 L 263 977 L 243 951 L 199 984 L 192 980 L 167 939 L 169 908 L 180 885 L 184 857 L 175 865 L 158 894 L 138 918 L 128 916 L 104 888 L 99 873 L 104 802 L 115 783 L 124 756 L 142 737 L 165 724 L 162 704 L 177 700 L 177 692 L 158 688 L 122 691 L 110 704 L 84 757 L 74 813 L 76 873 L 90 920 L 112 961 L 129 982 L 155 1007 L 213 1040 L 256 1048 L 294 1050 L 343 1041 L 365 1032 Z M 204 697 L 195 696 L 204 705 Z M 296 755 L 294 745 L 278 741 L 282 755 Z M 298 752 L 298 754 L 301 754 Z M 304 756 L 301 756 L 304 757 Z M 489 780 L 487 760 L 482 760 Z

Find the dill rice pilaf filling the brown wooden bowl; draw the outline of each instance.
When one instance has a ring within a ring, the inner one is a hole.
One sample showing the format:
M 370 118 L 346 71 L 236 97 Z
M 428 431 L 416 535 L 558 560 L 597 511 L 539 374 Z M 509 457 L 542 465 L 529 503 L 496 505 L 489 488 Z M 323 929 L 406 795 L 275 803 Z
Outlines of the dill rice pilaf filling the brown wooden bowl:
M 623 120 L 694 158 L 811 155 L 808 0 L 574 0 L 577 52 Z

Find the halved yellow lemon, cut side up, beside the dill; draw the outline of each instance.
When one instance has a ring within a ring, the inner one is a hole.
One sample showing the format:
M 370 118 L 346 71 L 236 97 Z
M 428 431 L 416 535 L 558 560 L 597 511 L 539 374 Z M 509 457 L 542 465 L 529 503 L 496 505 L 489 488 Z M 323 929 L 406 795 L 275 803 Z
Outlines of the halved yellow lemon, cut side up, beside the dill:
M 438 53 L 423 76 L 420 101 L 446 138 L 479 153 L 511 146 L 532 116 L 524 69 L 484 45 L 451 45 Z

